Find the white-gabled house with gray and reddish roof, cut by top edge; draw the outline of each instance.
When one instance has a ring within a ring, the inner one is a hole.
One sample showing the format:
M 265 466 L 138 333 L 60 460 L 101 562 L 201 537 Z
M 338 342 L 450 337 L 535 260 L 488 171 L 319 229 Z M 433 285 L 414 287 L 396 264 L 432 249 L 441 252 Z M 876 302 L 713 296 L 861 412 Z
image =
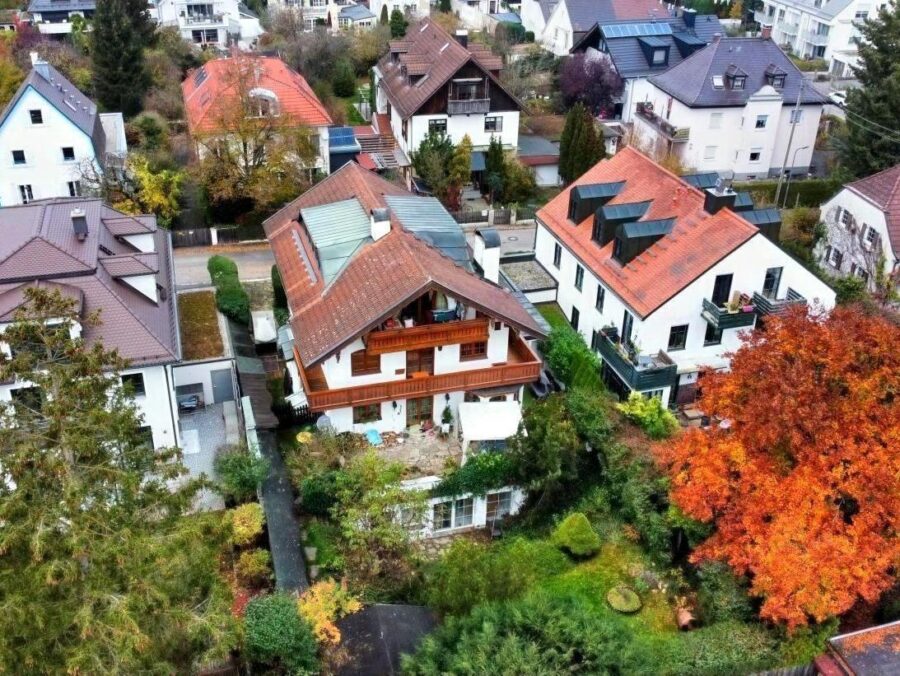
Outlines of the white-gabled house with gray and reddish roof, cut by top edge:
M 650 21 L 669 16 L 658 0 L 522 0 L 525 30 L 557 56 L 565 56 L 599 24 Z

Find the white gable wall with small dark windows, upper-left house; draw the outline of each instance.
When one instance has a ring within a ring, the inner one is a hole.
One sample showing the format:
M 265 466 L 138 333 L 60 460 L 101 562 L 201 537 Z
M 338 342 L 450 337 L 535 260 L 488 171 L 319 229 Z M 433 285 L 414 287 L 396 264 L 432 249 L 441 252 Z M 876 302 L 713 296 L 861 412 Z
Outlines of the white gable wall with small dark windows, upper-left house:
M 38 109 L 43 123 L 32 124 L 29 111 Z M 63 160 L 64 147 L 74 150 L 74 160 Z M 13 150 L 25 151 L 24 165 L 13 163 Z M 31 185 L 34 199 L 68 197 L 67 183 L 95 160 L 90 137 L 29 87 L 0 127 L 0 206 L 22 203 L 20 185 Z

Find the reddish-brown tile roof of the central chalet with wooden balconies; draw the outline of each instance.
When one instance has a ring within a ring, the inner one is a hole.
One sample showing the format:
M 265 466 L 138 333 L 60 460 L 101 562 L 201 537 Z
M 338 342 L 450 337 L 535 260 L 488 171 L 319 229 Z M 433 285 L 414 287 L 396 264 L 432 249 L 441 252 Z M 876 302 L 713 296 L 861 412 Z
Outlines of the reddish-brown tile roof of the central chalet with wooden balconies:
M 543 334 L 509 291 L 456 265 L 396 219 L 391 232 L 364 245 L 326 287 L 312 242 L 297 220 L 300 209 L 356 197 L 369 211 L 386 207 L 385 195 L 409 193 L 350 162 L 265 222 L 304 366 L 314 366 L 429 288 L 463 298 L 532 335 Z

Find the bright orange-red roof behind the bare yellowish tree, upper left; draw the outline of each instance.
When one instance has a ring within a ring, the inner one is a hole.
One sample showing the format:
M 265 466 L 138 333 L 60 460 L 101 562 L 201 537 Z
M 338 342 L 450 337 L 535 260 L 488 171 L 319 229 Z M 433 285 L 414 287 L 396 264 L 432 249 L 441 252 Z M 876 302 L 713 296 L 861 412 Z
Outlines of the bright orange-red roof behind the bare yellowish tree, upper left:
M 235 101 L 240 69 L 245 69 L 254 88 L 266 89 L 278 98 L 279 111 L 298 125 L 325 127 L 331 117 L 300 73 L 279 58 L 242 54 L 215 59 L 188 73 L 181 83 L 188 130 L 192 134 L 215 131 L 225 103 Z

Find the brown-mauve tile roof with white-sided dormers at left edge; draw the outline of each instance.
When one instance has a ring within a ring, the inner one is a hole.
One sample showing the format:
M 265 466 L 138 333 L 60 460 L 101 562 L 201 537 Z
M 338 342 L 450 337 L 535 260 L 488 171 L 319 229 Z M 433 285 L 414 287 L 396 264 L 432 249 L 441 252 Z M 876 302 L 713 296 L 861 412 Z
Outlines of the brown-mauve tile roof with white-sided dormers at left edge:
M 75 235 L 74 209 L 85 214 L 84 240 Z M 135 218 L 145 231 L 150 228 L 156 253 L 141 253 L 117 236 L 119 224 L 131 219 L 99 199 L 58 198 L 0 209 L 0 309 L 13 311 L 27 286 L 60 288 L 81 299 L 83 313 L 100 311 L 102 324 L 85 329 L 89 342 L 102 341 L 135 365 L 178 360 L 169 235 L 156 228 L 152 216 Z M 141 274 L 154 274 L 163 289 L 155 303 L 117 279 L 122 270 L 134 273 L 138 266 Z

